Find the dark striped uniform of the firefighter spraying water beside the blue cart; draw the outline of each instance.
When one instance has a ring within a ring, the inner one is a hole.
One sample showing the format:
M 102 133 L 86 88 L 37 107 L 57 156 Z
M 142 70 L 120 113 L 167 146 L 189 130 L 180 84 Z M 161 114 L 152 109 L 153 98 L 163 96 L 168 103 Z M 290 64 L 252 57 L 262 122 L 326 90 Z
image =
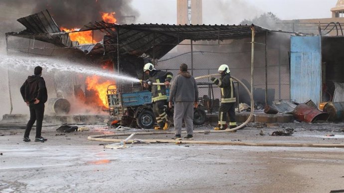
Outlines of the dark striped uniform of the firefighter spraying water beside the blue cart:
M 166 81 L 171 82 L 173 74 L 171 72 L 164 72 L 161 70 L 152 70 L 149 73 L 149 80 L 154 83 L 164 83 Z M 155 114 L 157 123 L 161 129 L 165 123 L 168 122 L 167 114 L 164 110 L 164 105 L 167 104 L 167 94 L 165 85 L 149 86 L 148 90 L 152 92 L 153 112 Z M 164 128 L 165 129 L 165 128 Z M 168 128 L 166 128 L 168 129 Z

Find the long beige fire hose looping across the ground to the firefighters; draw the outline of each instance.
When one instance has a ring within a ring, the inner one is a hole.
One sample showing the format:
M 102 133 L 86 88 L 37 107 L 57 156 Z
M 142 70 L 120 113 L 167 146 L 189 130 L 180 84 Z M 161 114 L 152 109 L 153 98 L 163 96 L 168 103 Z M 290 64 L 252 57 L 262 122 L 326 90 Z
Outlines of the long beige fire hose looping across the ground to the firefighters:
M 207 78 L 210 76 L 219 76 L 219 74 L 209 74 L 204 76 L 198 76 L 195 77 L 195 79 L 202 79 Z M 194 131 L 194 133 L 223 133 L 223 132 L 233 132 L 235 130 L 238 130 L 245 126 L 253 116 L 253 110 L 254 110 L 254 101 L 253 96 L 251 92 L 248 90 L 248 88 L 237 78 L 232 78 L 239 82 L 244 89 L 247 91 L 247 93 L 250 96 L 251 99 L 251 112 L 248 119 L 242 123 L 241 125 L 233 128 L 233 129 L 226 129 L 226 130 L 208 130 L 208 131 Z M 156 83 L 156 85 L 164 85 L 165 83 Z M 155 85 L 155 83 L 153 83 Z M 186 133 L 186 131 L 182 132 L 183 134 Z M 174 132 L 136 132 L 135 135 L 156 135 L 156 134 L 174 134 Z M 118 137 L 118 136 L 128 136 L 127 133 L 117 133 L 117 134 L 103 134 L 103 135 L 94 135 L 89 136 L 87 139 L 91 141 L 103 141 L 103 142 L 117 142 L 117 143 L 134 143 L 134 140 L 129 140 L 130 137 L 128 137 L 125 140 L 122 139 L 109 139 L 107 137 Z M 131 134 L 133 136 L 133 134 Z M 320 143 L 250 143 L 250 142 L 233 142 L 233 141 L 190 141 L 190 140 L 183 140 L 183 141 L 175 141 L 175 140 L 164 140 L 164 139 L 151 139 L 151 140 L 143 140 L 145 143 L 175 143 L 175 144 L 206 144 L 206 145 L 241 145 L 241 146 L 273 146 L 273 147 L 318 147 L 318 148 L 344 148 L 344 144 L 320 144 Z M 110 146 L 111 147 L 111 146 Z

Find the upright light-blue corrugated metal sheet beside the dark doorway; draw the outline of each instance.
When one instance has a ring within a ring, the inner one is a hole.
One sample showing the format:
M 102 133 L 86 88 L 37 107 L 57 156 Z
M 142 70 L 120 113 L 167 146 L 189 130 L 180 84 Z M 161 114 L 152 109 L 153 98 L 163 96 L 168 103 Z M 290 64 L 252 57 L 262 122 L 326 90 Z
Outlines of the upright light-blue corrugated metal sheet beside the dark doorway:
M 303 103 L 311 99 L 321 102 L 320 36 L 291 36 L 290 93 L 291 100 Z

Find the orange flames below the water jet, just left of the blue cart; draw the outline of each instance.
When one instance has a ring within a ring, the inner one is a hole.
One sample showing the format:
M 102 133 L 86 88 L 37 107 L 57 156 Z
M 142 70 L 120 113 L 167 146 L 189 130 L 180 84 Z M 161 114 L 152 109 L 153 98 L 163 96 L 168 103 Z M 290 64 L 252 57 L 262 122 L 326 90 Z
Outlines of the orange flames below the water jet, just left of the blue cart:
M 97 92 L 99 99 L 101 100 L 100 106 L 105 106 L 109 108 L 109 104 L 107 101 L 107 89 L 110 84 L 114 84 L 109 80 L 100 83 L 100 77 L 93 75 L 91 77 L 86 78 L 87 90 L 94 90 Z

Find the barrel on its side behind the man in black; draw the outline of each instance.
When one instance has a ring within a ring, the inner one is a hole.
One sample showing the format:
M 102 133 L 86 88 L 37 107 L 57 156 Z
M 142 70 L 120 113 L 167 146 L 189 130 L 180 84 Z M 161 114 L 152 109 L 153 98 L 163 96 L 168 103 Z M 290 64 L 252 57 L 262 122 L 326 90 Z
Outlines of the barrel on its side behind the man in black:
M 70 110 L 70 103 L 64 98 L 51 98 L 47 102 L 47 110 L 56 115 L 65 115 Z

